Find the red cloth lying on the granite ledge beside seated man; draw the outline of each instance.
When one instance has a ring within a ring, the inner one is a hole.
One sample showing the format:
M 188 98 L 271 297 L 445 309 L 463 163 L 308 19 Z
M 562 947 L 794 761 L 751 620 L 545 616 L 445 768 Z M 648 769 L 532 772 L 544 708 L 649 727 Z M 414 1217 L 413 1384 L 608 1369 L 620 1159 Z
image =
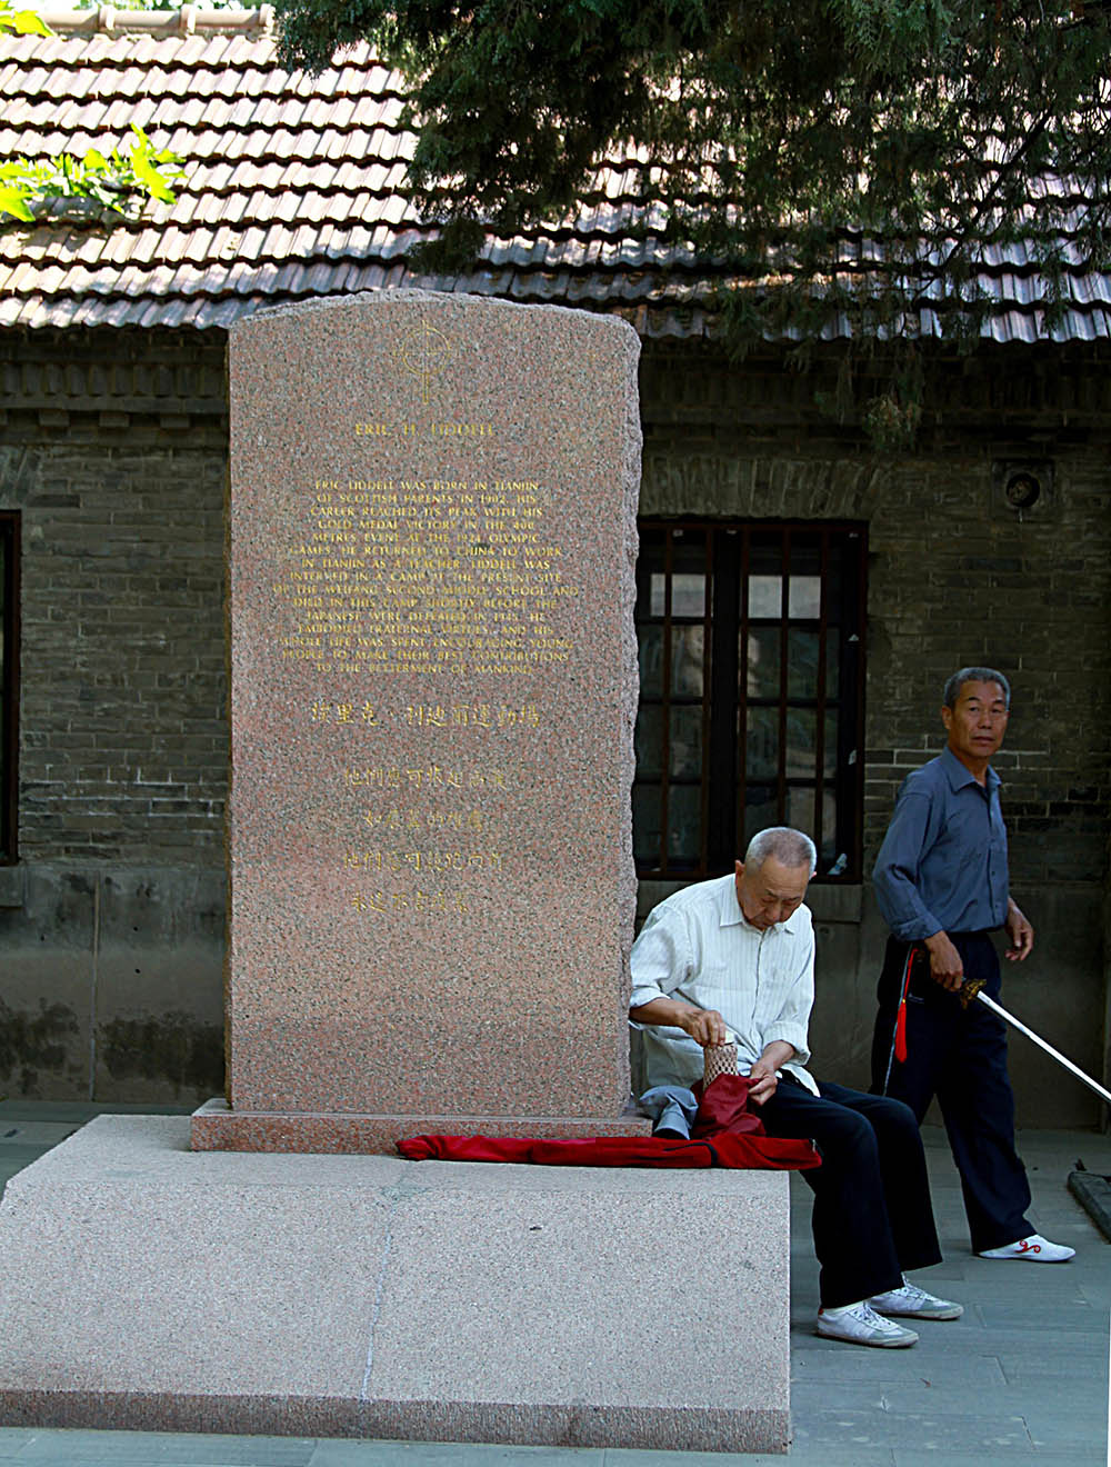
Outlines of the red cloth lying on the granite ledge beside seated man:
M 764 1135 L 748 1109 L 745 1075 L 718 1075 L 698 1096 L 689 1141 L 662 1135 L 591 1135 L 582 1140 L 531 1140 L 516 1135 L 413 1135 L 397 1150 L 410 1162 L 532 1162 L 535 1166 L 730 1166 L 802 1171 L 819 1166 L 811 1141 Z

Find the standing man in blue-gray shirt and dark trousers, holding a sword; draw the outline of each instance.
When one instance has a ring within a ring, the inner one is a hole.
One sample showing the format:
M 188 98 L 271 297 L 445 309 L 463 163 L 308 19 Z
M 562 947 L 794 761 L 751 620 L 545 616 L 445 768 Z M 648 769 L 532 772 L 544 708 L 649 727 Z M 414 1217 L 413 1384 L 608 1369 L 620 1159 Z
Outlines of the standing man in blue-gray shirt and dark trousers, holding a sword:
M 991 933 L 1007 932 L 1025 962 L 1033 929 L 1008 890 L 1000 776 L 1011 689 L 992 667 L 961 667 L 945 684 L 948 742 L 903 782 L 875 863 L 891 937 L 879 977 L 872 1090 L 896 1096 L 922 1122 L 937 1094 L 960 1172 L 972 1250 L 985 1259 L 1064 1263 L 1074 1248 L 1039 1237 L 1026 1218 L 1030 1188 L 1014 1150 L 1014 1096 L 1003 1020 L 961 1005 L 966 978 L 1000 995 Z

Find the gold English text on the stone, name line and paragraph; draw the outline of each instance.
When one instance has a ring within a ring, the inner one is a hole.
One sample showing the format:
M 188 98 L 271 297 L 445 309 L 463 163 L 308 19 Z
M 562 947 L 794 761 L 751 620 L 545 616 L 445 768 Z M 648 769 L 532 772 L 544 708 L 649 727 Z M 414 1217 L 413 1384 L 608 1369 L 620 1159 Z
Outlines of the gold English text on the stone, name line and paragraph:
M 396 436 L 396 478 L 305 487 L 274 584 L 283 657 L 321 672 L 350 663 L 462 676 L 566 663 L 553 616 L 579 587 L 563 569 L 550 491 L 528 478 L 418 478 L 419 442 L 416 424 Z

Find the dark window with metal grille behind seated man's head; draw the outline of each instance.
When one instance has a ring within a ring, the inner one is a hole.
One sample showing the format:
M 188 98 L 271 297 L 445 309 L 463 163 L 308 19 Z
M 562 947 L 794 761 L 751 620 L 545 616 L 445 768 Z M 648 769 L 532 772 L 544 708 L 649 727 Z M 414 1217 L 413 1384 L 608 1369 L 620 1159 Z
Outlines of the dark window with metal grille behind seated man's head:
M 860 880 L 866 528 L 641 522 L 633 848 L 642 877 L 733 868 L 765 826 Z

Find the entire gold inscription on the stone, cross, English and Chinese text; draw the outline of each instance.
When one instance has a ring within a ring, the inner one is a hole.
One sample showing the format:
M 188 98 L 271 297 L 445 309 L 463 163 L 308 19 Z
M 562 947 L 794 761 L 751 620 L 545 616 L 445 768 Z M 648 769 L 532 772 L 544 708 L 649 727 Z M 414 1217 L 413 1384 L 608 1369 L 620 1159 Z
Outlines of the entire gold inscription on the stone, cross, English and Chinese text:
M 450 342 L 429 334 L 443 365 Z M 419 412 L 432 371 L 415 359 L 412 373 L 413 333 L 400 336 L 394 362 L 399 380 L 418 378 Z M 355 418 L 344 459 L 388 462 L 390 477 L 342 478 L 325 464 L 289 496 L 271 650 L 302 665 L 290 716 L 308 738 L 331 735 L 321 795 L 346 844 L 328 866 L 366 921 L 468 914 L 484 883 L 462 877 L 513 868 L 504 797 L 551 732 L 528 681 L 569 662 L 580 594 L 551 489 L 425 472 L 444 449 L 472 471 L 500 427 Z M 490 678 L 506 679 L 498 697 Z

